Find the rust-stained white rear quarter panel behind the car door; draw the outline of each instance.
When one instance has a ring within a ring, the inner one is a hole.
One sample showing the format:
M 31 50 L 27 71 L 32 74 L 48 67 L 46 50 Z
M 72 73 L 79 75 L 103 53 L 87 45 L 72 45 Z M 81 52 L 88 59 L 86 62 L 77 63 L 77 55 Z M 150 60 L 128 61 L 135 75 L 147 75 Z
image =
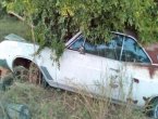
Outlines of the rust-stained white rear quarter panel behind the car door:
M 123 65 L 132 82 L 131 97 L 137 101 L 138 106 L 144 106 L 144 97 L 158 94 L 158 68 L 149 64 L 123 63 Z

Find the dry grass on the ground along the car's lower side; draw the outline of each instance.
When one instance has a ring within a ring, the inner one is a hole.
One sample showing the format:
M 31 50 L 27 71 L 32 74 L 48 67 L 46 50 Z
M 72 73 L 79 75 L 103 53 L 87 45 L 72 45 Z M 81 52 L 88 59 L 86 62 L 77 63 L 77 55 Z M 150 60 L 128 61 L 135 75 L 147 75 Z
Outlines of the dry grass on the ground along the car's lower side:
M 28 82 L 14 82 L 10 90 L 0 93 L 0 101 L 27 105 L 32 119 L 146 119 L 130 104 L 118 106 L 108 100 L 56 89 L 44 90 Z

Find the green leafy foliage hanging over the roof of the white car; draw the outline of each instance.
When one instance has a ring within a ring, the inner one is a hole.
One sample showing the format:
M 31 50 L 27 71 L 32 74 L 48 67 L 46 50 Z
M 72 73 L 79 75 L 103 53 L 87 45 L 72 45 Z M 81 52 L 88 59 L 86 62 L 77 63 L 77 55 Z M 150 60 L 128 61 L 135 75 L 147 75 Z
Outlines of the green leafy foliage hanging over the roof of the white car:
M 106 40 L 110 30 L 137 32 L 142 43 L 157 41 L 158 4 L 154 0 L 5 0 L 14 11 L 36 27 L 36 41 L 54 47 L 59 55 L 63 42 L 76 31 L 93 39 Z

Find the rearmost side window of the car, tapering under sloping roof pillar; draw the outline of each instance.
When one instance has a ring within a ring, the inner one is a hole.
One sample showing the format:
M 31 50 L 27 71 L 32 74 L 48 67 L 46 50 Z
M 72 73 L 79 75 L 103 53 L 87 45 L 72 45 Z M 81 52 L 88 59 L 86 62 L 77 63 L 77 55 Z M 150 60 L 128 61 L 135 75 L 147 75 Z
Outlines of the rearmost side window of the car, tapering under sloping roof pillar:
M 130 37 L 125 37 L 122 58 L 123 62 L 150 63 L 148 56 L 138 43 Z

